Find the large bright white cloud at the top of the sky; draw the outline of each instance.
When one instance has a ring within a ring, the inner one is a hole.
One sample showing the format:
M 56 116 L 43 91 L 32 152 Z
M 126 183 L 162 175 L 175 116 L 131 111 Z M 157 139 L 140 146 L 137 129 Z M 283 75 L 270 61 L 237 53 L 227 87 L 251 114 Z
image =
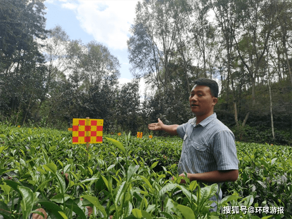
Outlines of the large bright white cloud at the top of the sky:
M 80 26 L 98 42 L 112 49 L 127 49 L 130 25 L 135 18 L 138 0 L 89 0 L 67 2 Z

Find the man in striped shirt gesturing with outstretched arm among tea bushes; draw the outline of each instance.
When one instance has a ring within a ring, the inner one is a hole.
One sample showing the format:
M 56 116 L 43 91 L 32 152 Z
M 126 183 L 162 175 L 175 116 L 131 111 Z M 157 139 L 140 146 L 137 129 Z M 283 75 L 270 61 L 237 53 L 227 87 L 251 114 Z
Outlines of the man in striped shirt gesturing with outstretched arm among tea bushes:
M 218 102 L 218 84 L 215 80 L 200 78 L 195 81 L 189 102 L 196 115 L 183 125 L 148 125 L 150 130 L 164 130 L 179 135 L 183 139 L 181 159 L 178 165 L 179 176 L 187 173 L 190 181 L 205 184 L 236 181 L 238 160 L 235 138 L 232 131 L 221 123 L 214 113 Z M 184 180 L 181 183 L 185 183 Z M 222 199 L 222 191 L 218 194 Z M 211 200 L 216 201 L 216 197 Z M 216 205 L 213 205 L 216 206 Z

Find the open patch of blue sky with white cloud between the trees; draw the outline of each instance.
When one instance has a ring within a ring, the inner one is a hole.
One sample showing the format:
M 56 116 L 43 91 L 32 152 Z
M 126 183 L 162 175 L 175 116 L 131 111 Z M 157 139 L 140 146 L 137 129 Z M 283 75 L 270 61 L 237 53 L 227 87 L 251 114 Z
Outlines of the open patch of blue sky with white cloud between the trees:
M 60 25 L 71 40 L 80 39 L 84 44 L 92 40 L 102 43 L 121 64 L 120 83 L 127 83 L 132 79 L 127 40 L 137 2 L 138 0 L 45 0 L 46 29 Z

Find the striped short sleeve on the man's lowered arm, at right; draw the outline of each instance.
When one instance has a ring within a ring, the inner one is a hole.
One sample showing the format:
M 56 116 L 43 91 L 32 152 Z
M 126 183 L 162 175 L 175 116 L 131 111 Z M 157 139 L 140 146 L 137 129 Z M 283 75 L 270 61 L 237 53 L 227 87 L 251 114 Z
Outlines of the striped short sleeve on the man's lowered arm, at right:
M 238 169 L 235 138 L 231 131 L 222 130 L 216 133 L 213 154 L 217 161 L 218 170 Z

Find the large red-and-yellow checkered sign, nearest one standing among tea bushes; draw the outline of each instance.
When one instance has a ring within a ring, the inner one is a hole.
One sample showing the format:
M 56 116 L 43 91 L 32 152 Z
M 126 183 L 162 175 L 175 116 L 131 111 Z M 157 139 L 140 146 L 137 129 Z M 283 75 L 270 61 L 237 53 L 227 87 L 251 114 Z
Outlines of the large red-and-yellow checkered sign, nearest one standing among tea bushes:
M 73 144 L 102 143 L 103 119 L 73 119 Z

